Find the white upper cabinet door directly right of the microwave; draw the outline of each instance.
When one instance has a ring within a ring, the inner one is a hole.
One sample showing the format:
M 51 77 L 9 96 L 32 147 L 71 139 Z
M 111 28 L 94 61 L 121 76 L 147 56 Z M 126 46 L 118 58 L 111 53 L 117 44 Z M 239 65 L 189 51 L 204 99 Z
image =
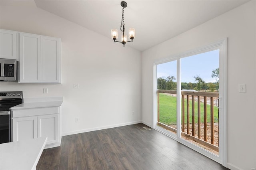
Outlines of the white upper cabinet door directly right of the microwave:
M 41 82 L 41 36 L 20 33 L 20 82 Z

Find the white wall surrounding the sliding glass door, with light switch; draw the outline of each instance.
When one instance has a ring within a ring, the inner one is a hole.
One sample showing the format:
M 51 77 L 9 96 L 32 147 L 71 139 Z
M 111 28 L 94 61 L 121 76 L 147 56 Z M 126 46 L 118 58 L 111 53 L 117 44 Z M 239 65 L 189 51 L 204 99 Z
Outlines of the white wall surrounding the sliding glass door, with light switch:
M 228 38 L 228 168 L 256 168 L 256 1 L 250 1 L 142 53 L 142 122 L 153 127 L 153 63 Z M 238 84 L 246 83 L 246 93 Z

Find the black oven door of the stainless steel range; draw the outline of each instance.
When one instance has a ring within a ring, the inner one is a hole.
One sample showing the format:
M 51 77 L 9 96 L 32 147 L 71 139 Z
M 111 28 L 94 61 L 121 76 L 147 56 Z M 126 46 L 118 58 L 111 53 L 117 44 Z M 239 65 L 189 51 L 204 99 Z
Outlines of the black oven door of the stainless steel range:
M 11 142 L 11 111 L 0 111 L 0 143 Z

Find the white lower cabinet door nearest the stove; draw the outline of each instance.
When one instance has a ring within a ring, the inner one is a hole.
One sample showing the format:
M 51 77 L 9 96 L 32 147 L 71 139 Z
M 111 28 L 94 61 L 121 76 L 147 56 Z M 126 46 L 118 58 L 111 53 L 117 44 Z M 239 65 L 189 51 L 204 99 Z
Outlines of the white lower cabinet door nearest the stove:
M 37 118 L 20 117 L 13 119 L 13 141 L 37 138 Z

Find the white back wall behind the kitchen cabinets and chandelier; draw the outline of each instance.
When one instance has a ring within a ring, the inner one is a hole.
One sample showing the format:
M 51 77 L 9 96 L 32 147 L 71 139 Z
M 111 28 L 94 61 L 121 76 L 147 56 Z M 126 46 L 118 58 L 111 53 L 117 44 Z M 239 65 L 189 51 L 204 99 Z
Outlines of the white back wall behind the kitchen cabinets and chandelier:
M 62 84 L 0 82 L 0 91 L 24 91 L 24 98 L 63 96 L 64 135 L 141 122 L 139 51 L 36 8 L 34 1 L 6 3 L 1 2 L 1 29 L 62 39 Z

